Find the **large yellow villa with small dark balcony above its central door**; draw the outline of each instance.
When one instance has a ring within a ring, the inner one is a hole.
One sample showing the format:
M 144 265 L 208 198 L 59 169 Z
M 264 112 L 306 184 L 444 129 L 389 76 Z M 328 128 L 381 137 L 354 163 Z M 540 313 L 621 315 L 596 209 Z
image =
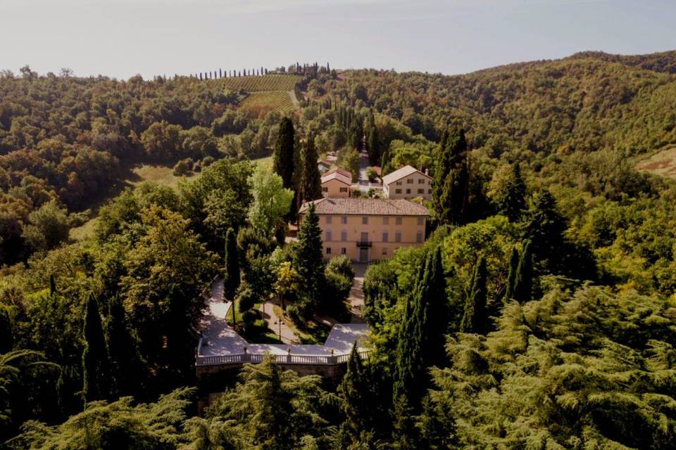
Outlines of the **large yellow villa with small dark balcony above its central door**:
M 321 198 L 311 203 L 319 216 L 325 259 L 347 255 L 354 262 L 372 262 L 425 242 L 430 213 L 409 200 Z M 301 220 L 308 205 L 299 210 Z

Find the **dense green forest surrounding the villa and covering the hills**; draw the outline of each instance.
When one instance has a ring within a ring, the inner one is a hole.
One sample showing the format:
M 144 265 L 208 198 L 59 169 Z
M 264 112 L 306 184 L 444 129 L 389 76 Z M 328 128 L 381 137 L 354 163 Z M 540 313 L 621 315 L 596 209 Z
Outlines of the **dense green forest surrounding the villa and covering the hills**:
M 288 117 L 221 80 L 2 72 L 0 448 L 672 449 L 676 184 L 634 165 L 676 144 L 675 68 L 327 68 Z M 284 236 L 317 159 L 360 150 L 433 177 L 425 245 L 365 274 L 370 356 L 337 388 L 246 365 L 197 416 L 215 275 L 242 333 L 270 295 L 300 328 L 345 313 L 354 273 L 313 210 Z M 125 187 L 144 162 L 200 173 Z

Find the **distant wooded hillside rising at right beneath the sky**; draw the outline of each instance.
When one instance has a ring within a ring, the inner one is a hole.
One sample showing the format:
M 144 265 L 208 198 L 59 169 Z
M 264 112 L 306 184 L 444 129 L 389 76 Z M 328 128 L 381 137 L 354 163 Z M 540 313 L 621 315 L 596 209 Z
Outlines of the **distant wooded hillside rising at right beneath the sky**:
M 491 155 L 601 148 L 636 155 L 676 141 L 676 77 L 668 73 L 675 64 L 675 52 L 592 52 L 457 76 L 351 70 L 310 94 L 361 101 L 429 139 L 448 122 L 461 124 L 470 145 Z

